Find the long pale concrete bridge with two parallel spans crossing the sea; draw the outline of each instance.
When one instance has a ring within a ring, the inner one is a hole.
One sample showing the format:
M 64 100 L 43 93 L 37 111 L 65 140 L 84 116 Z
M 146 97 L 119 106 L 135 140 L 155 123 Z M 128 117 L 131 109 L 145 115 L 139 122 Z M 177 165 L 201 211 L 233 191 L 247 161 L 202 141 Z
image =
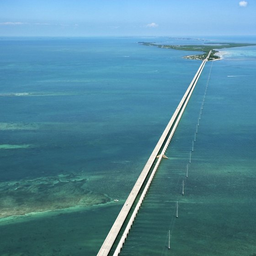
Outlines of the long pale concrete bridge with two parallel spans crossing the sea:
M 114 244 L 116 238 L 117 238 L 117 235 L 119 234 L 120 232 L 120 229 L 122 228 L 123 226 L 123 223 L 125 221 L 125 219 L 127 218 L 127 215 L 128 213 L 130 212 L 130 209 L 131 207 L 133 206 L 133 203 L 136 199 L 136 197 L 138 196 L 138 193 L 142 187 L 142 185 L 144 184 L 144 181 L 150 171 L 150 169 L 152 168 L 152 165 L 154 164 L 154 161 L 155 159 L 157 158 L 159 152 L 160 152 L 160 149 L 161 147 L 163 146 L 163 144 L 165 143 L 165 146 L 163 148 L 163 150 L 161 151 L 161 154 L 159 155 L 159 158 L 158 158 L 158 161 L 155 165 L 155 168 L 154 170 L 152 171 L 152 174 L 149 178 L 149 181 L 141 195 L 141 197 L 139 198 L 139 201 L 133 211 L 133 214 L 128 222 L 128 225 L 117 245 L 117 249 L 116 251 L 114 252 L 114 255 L 118 255 L 122 246 L 123 246 L 123 243 L 128 235 L 128 232 L 131 228 L 131 225 L 133 224 L 133 221 L 139 211 L 139 208 L 140 208 L 140 205 L 144 199 L 144 196 L 150 186 L 150 183 L 155 175 L 155 171 L 157 170 L 159 164 L 160 164 L 160 161 L 162 160 L 162 157 L 163 155 L 165 154 L 165 151 L 171 141 L 171 138 L 172 138 L 172 135 L 174 134 L 175 132 L 175 129 L 178 125 L 178 122 L 179 120 L 181 119 L 181 115 L 182 113 L 184 112 L 186 106 L 187 106 L 187 102 L 189 101 L 190 99 L 190 96 L 192 95 L 192 92 L 195 88 L 195 85 L 197 83 L 197 80 L 199 79 L 202 71 L 203 71 L 203 67 L 206 63 L 206 61 L 208 60 L 209 56 L 211 54 L 211 51 L 208 53 L 208 56 L 206 59 L 203 60 L 202 64 L 200 65 L 199 69 L 197 70 L 197 73 L 196 75 L 194 76 L 194 78 L 192 79 L 192 82 L 190 83 L 190 85 L 188 86 L 187 88 L 187 91 L 185 92 L 184 96 L 182 97 L 178 107 L 176 108 L 173 116 L 171 117 L 169 123 L 167 124 L 164 132 L 162 133 L 158 143 L 156 144 L 155 146 L 155 149 L 153 150 L 152 154 L 150 155 L 149 157 L 149 160 L 147 161 L 146 165 L 144 166 L 143 170 L 141 171 L 140 173 L 140 176 L 138 178 L 138 180 L 136 181 L 132 191 L 130 192 L 127 200 L 125 201 L 124 205 L 123 205 L 123 208 L 121 209 L 121 211 L 119 212 L 118 216 L 117 216 L 117 219 L 115 220 L 114 224 L 112 225 L 112 228 L 110 229 L 105 241 L 103 242 L 103 244 L 101 245 L 101 249 L 100 251 L 98 252 L 97 256 L 108 256 L 111 248 L 112 248 L 112 245 Z M 171 130 L 172 129 L 172 130 Z M 169 135 L 169 136 L 168 136 Z M 166 142 L 166 138 L 168 136 L 168 139 L 167 139 L 167 142 Z

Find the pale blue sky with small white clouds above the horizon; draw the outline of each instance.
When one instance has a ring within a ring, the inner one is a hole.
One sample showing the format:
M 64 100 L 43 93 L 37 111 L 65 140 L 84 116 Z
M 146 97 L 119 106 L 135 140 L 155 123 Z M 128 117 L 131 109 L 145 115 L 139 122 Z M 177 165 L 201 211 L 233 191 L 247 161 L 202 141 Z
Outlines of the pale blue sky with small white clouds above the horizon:
M 256 35 L 256 0 L 0 0 L 0 36 Z

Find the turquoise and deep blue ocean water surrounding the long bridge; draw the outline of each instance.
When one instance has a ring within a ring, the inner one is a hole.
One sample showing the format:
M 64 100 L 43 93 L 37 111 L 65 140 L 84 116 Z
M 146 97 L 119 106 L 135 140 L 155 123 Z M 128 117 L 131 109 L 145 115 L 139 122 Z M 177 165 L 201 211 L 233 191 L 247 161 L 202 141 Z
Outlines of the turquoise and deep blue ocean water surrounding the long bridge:
M 139 41 L 256 37 L 0 38 L 0 256 L 97 254 L 200 65 Z M 206 64 L 121 255 L 256 254 L 256 47 L 221 55 Z

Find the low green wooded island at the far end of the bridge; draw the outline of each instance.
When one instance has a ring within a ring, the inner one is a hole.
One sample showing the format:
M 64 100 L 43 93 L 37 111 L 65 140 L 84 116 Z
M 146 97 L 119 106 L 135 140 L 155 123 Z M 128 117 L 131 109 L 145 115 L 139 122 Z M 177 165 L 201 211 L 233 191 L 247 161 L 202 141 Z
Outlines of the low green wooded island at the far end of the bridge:
M 256 45 L 255 43 L 205 43 L 203 45 L 201 45 L 201 44 L 198 44 L 198 45 L 196 45 L 196 44 L 168 45 L 168 44 L 147 43 L 147 42 L 138 42 L 138 43 L 142 44 L 142 45 L 147 45 L 147 46 L 157 46 L 159 48 L 170 48 L 170 49 L 183 50 L 183 51 L 204 52 L 202 54 L 187 55 L 187 56 L 183 57 L 184 59 L 200 59 L 200 60 L 205 59 L 210 50 L 212 50 L 212 53 L 209 56 L 209 60 L 217 60 L 217 59 L 220 59 L 220 57 L 216 55 L 216 53 L 218 53 L 218 51 L 216 51 L 215 49 Z

